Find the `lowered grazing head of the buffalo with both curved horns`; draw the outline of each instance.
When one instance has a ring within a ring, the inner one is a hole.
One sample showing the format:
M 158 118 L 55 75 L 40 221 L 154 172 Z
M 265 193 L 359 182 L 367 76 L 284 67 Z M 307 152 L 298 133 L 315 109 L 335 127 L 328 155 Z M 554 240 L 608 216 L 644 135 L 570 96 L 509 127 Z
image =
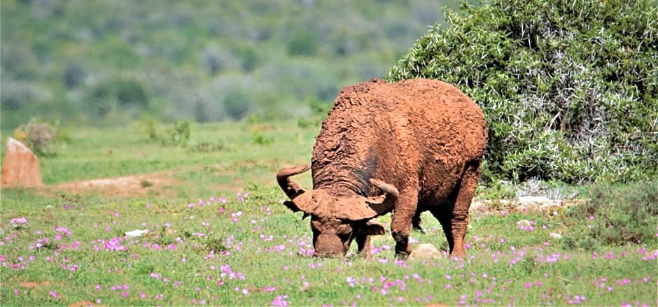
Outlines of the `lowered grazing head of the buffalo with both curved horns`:
M 384 234 L 384 227 L 372 218 L 386 213 L 398 200 L 398 189 L 381 180 L 370 183 L 384 192 L 377 197 L 342 195 L 331 190 L 306 191 L 290 176 L 308 171 L 309 166 L 284 168 L 276 174 L 276 180 L 290 201 L 286 205 L 293 212 L 303 211 L 311 216 L 313 247 L 316 256 L 342 257 L 356 238 L 360 245 L 367 244 L 367 236 Z

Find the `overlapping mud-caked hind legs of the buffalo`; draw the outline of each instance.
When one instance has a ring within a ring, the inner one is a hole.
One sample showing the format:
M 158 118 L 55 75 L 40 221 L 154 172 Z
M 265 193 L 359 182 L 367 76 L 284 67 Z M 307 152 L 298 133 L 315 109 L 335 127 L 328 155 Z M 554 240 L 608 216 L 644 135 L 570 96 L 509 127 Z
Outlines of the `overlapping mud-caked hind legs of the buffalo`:
M 468 209 L 479 180 L 479 164 L 479 161 L 466 164 L 458 187 L 448 199 L 451 206 L 442 206 L 442 208 L 432 211 L 443 227 L 451 257 L 463 259 L 466 256 L 464 237 L 468 227 Z

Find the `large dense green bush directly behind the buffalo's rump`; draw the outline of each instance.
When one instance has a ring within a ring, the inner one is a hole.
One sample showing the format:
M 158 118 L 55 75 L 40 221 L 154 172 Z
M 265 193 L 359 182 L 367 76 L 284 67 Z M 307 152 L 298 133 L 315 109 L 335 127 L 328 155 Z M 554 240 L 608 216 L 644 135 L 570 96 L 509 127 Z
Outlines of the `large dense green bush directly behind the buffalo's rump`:
M 493 0 L 448 12 L 388 72 L 460 87 L 489 126 L 483 173 L 658 175 L 658 1 Z

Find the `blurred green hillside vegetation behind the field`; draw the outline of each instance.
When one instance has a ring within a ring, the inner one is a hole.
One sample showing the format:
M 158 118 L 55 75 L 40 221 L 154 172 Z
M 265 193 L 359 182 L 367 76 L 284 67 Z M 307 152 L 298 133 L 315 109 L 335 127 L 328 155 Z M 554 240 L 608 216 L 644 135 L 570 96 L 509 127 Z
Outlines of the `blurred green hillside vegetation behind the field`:
M 1 128 L 312 113 L 456 0 L 3 0 Z

